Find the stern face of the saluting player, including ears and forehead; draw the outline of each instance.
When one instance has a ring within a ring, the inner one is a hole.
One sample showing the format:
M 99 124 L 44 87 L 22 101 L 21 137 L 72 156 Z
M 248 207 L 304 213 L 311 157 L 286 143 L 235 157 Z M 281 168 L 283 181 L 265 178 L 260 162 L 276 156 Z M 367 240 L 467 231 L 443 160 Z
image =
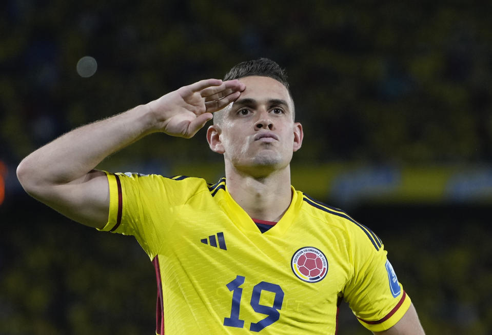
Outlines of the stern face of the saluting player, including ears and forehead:
M 253 176 L 285 168 L 302 144 L 302 126 L 293 121 L 293 103 L 284 85 L 270 77 L 240 79 L 246 89 L 210 126 L 210 148 L 227 164 Z

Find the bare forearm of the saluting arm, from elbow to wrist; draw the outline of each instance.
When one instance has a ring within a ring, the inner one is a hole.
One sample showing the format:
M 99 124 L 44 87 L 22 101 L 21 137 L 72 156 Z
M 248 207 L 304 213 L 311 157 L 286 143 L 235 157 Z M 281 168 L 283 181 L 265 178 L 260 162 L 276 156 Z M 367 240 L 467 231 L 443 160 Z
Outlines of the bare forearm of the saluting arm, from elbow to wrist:
M 17 175 L 25 186 L 66 184 L 83 177 L 108 155 L 153 131 L 146 105 L 74 129 L 28 155 Z

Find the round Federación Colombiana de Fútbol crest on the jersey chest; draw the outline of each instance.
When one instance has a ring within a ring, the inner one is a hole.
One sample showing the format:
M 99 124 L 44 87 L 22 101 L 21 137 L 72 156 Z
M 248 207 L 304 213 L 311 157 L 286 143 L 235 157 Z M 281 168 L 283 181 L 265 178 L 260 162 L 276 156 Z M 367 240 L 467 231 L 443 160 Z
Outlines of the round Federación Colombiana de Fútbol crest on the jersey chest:
M 308 283 L 316 283 L 325 278 L 328 272 L 328 261 L 321 250 L 304 247 L 292 256 L 292 271 L 297 277 Z

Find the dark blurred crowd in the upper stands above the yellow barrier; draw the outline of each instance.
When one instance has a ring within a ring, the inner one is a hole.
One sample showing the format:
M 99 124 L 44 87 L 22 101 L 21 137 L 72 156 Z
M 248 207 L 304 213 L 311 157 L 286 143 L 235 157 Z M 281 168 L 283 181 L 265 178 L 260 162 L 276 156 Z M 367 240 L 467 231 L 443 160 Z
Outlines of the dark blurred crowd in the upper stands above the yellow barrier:
M 224 6 L 11 0 L 1 6 L 0 156 L 13 162 L 73 127 L 261 56 L 288 71 L 307 135 L 300 159 L 492 158 L 488 3 L 312 1 L 293 8 L 281 1 L 253 7 L 237 0 Z M 75 71 L 86 55 L 98 64 L 89 78 Z M 186 154 L 178 158 L 191 152 L 210 159 L 205 146 L 180 142 Z M 150 160 L 155 149 L 168 157 L 169 147 L 158 136 L 129 153 L 131 160 Z

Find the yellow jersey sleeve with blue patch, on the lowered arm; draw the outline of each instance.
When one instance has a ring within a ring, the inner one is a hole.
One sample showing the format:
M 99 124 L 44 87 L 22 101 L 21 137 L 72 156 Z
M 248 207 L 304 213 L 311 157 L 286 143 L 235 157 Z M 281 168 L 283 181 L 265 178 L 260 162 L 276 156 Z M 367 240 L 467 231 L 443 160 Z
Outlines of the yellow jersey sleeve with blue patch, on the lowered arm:
M 410 298 L 387 260 L 381 240 L 360 225 L 350 236 L 353 273 L 343 292 L 359 322 L 371 331 L 395 325 L 410 307 Z

